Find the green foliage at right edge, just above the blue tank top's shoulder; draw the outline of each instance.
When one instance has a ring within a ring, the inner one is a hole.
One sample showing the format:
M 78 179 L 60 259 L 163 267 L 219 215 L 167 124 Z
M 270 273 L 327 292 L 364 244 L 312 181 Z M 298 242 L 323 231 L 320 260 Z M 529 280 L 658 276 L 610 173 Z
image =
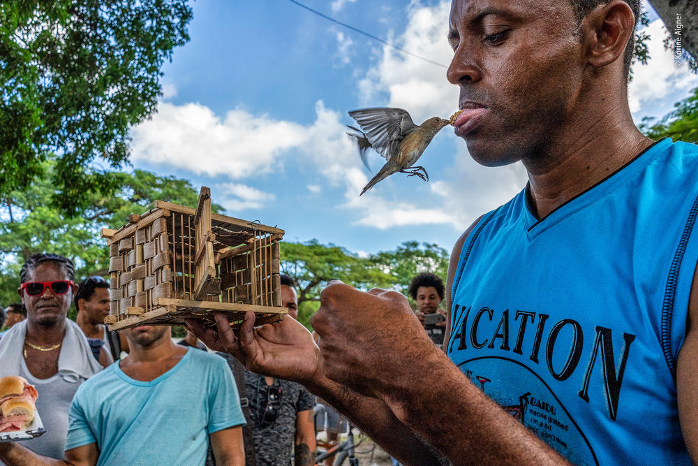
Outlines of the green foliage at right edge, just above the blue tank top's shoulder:
M 648 138 L 659 140 L 671 138 L 686 143 L 698 144 L 698 87 L 690 96 L 674 104 L 673 112 L 665 115 L 658 122 L 646 117 L 639 125 Z

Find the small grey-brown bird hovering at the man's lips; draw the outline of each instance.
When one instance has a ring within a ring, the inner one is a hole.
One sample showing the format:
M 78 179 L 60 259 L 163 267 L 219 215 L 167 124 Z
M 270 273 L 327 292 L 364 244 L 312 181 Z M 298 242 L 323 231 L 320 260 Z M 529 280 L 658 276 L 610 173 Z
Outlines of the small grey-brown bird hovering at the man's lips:
M 369 147 L 387 160 L 383 168 L 371 178 L 369 184 L 366 184 L 361 194 L 383 178 L 397 172 L 409 173 L 408 176 L 416 175 L 425 182 L 429 180 L 424 167 L 415 166 L 415 163 L 436 133 L 451 123 L 449 120 L 433 117 L 417 126 L 406 110 L 387 107 L 352 110 L 349 115 L 361 126 L 361 129 L 356 129 L 347 125 L 349 129 L 356 131 L 347 134 L 358 143 L 359 154 L 366 168 L 371 170 L 366 161 Z

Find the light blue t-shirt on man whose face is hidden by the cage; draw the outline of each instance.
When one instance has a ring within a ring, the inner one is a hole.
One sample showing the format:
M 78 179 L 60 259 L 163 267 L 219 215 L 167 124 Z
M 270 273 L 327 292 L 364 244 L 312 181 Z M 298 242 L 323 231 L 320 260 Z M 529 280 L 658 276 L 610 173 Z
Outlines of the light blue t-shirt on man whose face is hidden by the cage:
M 237 387 L 220 356 L 188 349 L 156 379 L 119 363 L 82 384 L 70 405 L 66 451 L 96 442 L 98 465 L 203 465 L 209 434 L 244 425 Z

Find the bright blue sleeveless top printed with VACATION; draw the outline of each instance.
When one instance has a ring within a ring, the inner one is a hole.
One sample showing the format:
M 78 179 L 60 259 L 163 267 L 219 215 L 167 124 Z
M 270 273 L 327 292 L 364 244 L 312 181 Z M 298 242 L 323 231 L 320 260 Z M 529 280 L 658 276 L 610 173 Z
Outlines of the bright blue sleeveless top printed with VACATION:
M 521 191 L 463 243 L 447 354 L 572 463 L 690 464 L 675 377 L 697 216 L 698 146 L 669 139 L 540 221 Z

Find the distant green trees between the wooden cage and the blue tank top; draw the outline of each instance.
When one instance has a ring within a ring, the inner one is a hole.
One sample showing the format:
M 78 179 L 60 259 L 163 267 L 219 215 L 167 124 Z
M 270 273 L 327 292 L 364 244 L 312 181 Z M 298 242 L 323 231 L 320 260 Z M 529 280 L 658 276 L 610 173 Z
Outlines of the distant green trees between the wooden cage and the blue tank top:
M 307 327 L 320 307 L 320 292 L 330 280 L 339 279 L 363 290 L 394 289 L 407 296 L 410 280 L 419 272 L 433 272 L 445 279 L 448 259 L 445 249 L 417 241 L 403 242 L 394 251 L 366 258 L 317 240 L 281 243 L 281 272 L 295 284 L 298 320 Z

